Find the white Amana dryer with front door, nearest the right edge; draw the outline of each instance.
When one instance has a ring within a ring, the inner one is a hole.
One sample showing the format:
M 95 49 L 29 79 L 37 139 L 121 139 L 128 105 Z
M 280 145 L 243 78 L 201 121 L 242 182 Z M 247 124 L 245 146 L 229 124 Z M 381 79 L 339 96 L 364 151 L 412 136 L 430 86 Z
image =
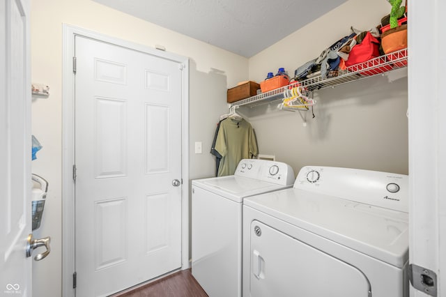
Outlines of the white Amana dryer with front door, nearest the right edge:
M 245 199 L 243 296 L 408 296 L 408 176 L 304 167 Z

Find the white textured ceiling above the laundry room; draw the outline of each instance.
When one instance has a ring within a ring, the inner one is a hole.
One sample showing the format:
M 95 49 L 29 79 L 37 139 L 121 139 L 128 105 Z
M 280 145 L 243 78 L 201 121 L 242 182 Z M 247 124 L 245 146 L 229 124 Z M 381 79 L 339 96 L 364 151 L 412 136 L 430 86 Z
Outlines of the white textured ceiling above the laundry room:
M 346 0 L 93 0 L 250 57 Z

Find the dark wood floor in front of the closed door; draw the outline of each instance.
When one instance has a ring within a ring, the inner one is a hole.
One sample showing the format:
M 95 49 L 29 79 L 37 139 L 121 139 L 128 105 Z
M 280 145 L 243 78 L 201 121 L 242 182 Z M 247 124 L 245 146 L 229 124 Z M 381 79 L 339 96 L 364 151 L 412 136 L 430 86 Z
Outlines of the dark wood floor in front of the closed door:
M 207 297 L 208 294 L 194 279 L 190 269 L 144 284 L 136 289 L 114 294 L 111 297 Z

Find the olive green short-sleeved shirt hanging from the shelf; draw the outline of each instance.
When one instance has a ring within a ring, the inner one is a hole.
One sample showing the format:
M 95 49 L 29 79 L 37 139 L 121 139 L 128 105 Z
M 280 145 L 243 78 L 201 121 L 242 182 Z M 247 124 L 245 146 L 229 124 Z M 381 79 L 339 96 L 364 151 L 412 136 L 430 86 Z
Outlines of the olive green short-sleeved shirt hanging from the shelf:
M 259 154 L 256 135 L 244 119 L 225 119 L 215 142 L 215 150 L 222 155 L 217 176 L 232 175 L 242 159 L 256 158 Z

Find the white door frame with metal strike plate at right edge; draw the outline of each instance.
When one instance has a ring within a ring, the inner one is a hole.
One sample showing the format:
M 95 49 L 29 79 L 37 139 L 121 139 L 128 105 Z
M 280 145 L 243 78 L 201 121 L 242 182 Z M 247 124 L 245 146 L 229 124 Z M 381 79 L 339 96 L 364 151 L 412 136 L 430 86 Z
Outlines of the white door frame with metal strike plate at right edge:
M 408 10 L 409 262 L 435 272 L 446 296 L 446 4 L 408 1 Z M 410 286 L 410 296 L 428 295 Z

